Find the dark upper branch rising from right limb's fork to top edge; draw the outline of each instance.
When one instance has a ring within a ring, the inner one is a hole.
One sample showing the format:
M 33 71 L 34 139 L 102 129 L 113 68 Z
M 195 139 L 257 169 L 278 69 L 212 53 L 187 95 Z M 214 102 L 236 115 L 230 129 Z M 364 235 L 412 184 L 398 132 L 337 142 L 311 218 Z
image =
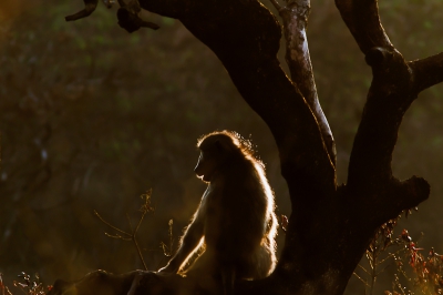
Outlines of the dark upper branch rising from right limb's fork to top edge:
M 393 49 L 380 22 L 377 0 L 336 0 L 336 6 L 364 54 L 374 47 Z

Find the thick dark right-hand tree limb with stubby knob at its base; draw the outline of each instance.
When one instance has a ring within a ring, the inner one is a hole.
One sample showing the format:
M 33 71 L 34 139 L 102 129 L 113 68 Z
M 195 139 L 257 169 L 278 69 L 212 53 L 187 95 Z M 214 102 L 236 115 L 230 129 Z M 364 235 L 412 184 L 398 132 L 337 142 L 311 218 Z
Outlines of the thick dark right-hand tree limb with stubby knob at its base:
M 373 75 L 351 152 L 348 197 L 368 199 L 372 206 L 383 207 L 388 216 L 429 195 L 424 180 L 413 177 L 399 185 L 391 169 L 400 124 L 419 94 L 416 74 L 389 41 L 377 0 L 336 0 L 336 4 Z M 390 192 L 389 196 L 383 192 Z M 392 202 L 387 202 L 387 197 Z

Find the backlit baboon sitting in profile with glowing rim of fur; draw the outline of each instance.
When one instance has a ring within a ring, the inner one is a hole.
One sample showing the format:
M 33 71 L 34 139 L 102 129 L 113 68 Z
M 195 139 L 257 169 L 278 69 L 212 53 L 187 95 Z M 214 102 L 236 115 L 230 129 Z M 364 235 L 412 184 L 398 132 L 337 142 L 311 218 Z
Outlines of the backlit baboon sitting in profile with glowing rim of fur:
M 236 279 L 262 278 L 275 268 L 274 194 L 264 164 L 237 133 L 213 132 L 197 146 L 195 173 L 208 186 L 177 253 L 159 271 L 212 276 L 230 293 Z M 189 265 L 202 247 L 204 253 Z

